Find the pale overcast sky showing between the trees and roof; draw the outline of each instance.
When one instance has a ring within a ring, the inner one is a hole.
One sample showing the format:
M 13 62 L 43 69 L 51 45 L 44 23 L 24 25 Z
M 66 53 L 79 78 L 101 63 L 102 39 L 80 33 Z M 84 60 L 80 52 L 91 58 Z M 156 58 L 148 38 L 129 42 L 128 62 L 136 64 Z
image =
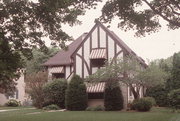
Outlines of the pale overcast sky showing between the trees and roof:
M 89 32 L 95 24 L 94 20 L 101 15 L 104 3 L 99 4 L 96 9 L 88 10 L 84 16 L 80 16 L 81 25 L 73 27 L 64 25 L 63 30 L 74 39 L 84 32 Z M 165 24 L 164 21 L 162 22 Z M 124 32 L 117 28 L 117 23 L 118 20 L 114 20 L 109 29 L 114 31 L 138 56 L 146 61 L 147 59 L 167 58 L 180 51 L 180 29 L 168 31 L 167 27 L 164 26 L 157 33 L 138 38 L 134 37 L 134 31 Z

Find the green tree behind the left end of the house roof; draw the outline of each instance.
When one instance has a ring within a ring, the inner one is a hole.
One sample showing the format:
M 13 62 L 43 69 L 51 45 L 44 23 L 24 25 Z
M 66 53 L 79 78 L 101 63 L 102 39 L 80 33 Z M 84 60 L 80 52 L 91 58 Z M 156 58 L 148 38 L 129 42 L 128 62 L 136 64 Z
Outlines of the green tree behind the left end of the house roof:
M 46 62 L 50 57 L 54 56 L 59 49 L 48 48 L 47 53 L 41 52 L 39 49 L 32 50 L 32 58 L 25 61 L 26 74 L 38 72 L 43 70 L 42 64 Z

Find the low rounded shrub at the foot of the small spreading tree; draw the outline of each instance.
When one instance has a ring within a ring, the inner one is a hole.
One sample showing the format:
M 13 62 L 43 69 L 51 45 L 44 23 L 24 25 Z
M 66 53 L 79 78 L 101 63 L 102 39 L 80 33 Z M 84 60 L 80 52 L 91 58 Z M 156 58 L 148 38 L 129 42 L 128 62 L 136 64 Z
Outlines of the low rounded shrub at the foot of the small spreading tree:
M 132 103 L 132 109 L 138 111 L 149 111 L 152 108 L 152 102 L 146 98 L 136 99 Z

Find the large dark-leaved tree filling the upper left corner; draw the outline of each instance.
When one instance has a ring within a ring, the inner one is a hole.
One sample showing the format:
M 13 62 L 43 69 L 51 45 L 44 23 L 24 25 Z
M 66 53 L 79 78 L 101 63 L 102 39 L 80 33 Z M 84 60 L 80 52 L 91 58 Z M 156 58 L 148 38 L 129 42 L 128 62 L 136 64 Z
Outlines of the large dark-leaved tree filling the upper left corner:
M 13 83 L 12 75 L 18 74 L 17 69 L 22 68 L 21 56 L 17 52 L 27 58 L 32 56 L 33 47 L 46 52 L 43 37 L 49 37 L 52 45 L 64 48 L 71 37 L 61 29 L 61 25 L 80 23 L 77 16 L 84 14 L 84 10 L 94 6 L 96 1 L 99 0 L 0 0 L 0 44 L 11 45 L 6 52 L 13 55 L 5 54 L 4 50 L 0 55 L 1 90 Z M 10 62 L 6 57 L 15 59 L 10 59 Z

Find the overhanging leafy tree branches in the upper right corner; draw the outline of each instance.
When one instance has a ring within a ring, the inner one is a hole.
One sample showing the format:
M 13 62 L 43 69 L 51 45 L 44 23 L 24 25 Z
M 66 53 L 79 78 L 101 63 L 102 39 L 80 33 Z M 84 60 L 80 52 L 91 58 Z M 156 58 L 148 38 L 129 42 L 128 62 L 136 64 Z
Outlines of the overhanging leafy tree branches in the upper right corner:
M 108 0 L 100 19 L 107 23 L 118 17 L 118 27 L 137 30 L 137 36 L 144 36 L 161 28 L 160 18 L 167 22 L 169 29 L 179 29 L 179 11 L 179 0 Z

